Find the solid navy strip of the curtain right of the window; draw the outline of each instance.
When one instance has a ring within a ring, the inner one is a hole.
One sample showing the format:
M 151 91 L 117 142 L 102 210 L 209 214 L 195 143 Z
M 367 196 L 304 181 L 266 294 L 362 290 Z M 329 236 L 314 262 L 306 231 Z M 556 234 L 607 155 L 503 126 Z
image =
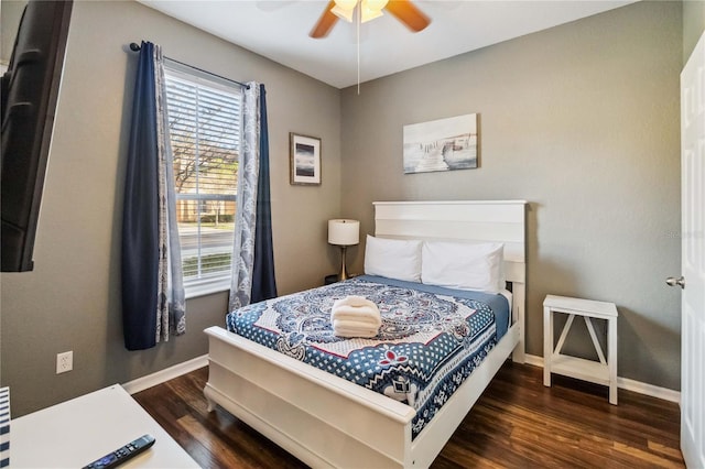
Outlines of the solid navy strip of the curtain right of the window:
M 269 131 L 267 92 L 260 85 L 260 174 L 257 185 L 257 221 L 254 263 L 252 266 L 252 303 L 276 296 L 274 252 L 272 246 L 272 210 L 269 194 Z

